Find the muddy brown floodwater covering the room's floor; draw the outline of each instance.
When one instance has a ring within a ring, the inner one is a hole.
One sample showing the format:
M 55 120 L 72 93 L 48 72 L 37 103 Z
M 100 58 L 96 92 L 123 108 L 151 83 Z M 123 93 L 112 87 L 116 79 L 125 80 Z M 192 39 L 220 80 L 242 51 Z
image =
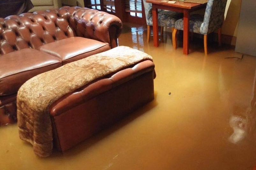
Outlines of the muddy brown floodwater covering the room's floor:
M 252 170 L 256 165 L 256 57 L 233 48 L 191 43 L 172 49 L 171 33 L 159 47 L 146 27 L 125 26 L 119 45 L 150 54 L 156 65 L 155 100 L 65 153 L 39 158 L 18 137 L 17 125 L 0 127 L 0 169 Z M 196 45 L 193 45 L 196 44 Z M 228 58 L 227 58 L 228 57 Z

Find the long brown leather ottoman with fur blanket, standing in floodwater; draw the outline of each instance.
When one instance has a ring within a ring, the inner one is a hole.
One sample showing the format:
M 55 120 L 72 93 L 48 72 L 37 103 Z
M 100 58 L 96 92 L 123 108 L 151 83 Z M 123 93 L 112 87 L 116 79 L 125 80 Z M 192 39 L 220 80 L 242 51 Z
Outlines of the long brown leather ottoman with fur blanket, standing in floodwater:
M 41 157 L 77 145 L 154 99 L 154 67 L 120 46 L 31 78 L 17 95 L 20 138 Z

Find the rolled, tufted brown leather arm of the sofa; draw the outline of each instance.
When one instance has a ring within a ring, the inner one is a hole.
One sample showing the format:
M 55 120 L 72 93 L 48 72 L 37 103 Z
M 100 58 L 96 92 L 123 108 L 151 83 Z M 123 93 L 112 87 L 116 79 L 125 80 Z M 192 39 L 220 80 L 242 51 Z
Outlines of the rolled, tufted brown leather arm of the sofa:
M 121 34 L 121 20 L 106 12 L 80 7 L 62 7 L 58 15 L 68 20 L 76 36 L 109 43 L 111 48 L 117 46 Z

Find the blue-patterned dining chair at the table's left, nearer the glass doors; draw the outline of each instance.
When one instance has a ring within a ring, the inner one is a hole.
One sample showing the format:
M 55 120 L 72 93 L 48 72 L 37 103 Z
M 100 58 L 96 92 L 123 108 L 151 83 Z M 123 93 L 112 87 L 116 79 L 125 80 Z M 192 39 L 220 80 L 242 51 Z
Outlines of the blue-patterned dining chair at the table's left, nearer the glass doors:
M 150 38 L 150 26 L 153 25 L 152 22 L 152 3 L 147 3 L 146 0 L 143 0 L 146 23 L 147 23 L 147 42 Z M 161 35 L 163 35 L 164 27 L 171 27 L 172 32 L 174 29 L 174 23 L 177 19 L 182 18 L 182 13 L 170 11 L 170 10 L 161 10 L 158 9 L 158 25 L 161 27 Z

